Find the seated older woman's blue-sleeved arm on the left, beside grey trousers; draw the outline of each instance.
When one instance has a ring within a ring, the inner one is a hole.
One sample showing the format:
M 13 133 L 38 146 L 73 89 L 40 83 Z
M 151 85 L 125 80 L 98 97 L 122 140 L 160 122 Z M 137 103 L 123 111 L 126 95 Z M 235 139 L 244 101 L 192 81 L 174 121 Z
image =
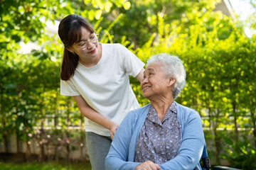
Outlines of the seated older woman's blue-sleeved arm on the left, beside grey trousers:
M 134 129 L 134 114 L 129 113 L 114 135 L 114 140 L 110 147 L 110 152 L 105 159 L 106 170 L 125 169 L 134 170 L 139 165 L 138 162 L 128 162 L 129 145 Z M 133 145 L 136 145 L 133 144 Z M 132 146 L 134 147 L 134 146 Z

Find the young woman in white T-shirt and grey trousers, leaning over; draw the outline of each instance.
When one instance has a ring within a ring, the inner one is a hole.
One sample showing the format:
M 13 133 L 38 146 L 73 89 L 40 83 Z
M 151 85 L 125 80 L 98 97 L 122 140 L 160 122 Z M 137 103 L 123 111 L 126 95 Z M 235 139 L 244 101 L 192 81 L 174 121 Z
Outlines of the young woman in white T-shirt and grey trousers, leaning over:
M 123 45 L 99 43 L 97 33 L 82 16 L 63 18 L 58 35 L 65 46 L 60 94 L 73 96 L 85 116 L 92 170 L 105 169 L 119 123 L 129 111 L 139 108 L 129 75 L 142 81 L 144 63 Z

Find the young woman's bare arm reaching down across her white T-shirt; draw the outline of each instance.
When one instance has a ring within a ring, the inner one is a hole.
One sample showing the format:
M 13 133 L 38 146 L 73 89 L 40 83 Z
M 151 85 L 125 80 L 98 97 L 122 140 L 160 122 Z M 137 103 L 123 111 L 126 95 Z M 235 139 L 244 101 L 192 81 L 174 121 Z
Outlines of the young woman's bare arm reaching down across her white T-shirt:
M 108 130 L 110 130 L 110 137 L 113 140 L 114 133 L 117 130 L 118 126 L 117 123 L 114 123 L 112 120 L 109 120 L 108 118 L 105 118 L 100 113 L 97 113 L 94 109 L 92 109 L 87 102 L 85 101 L 82 96 L 73 96 L 75 102 L 78 105 L 78 108 L 82 115 L 84 115 L 86 118 L 94 121 L 95 123 L 98 123 Z

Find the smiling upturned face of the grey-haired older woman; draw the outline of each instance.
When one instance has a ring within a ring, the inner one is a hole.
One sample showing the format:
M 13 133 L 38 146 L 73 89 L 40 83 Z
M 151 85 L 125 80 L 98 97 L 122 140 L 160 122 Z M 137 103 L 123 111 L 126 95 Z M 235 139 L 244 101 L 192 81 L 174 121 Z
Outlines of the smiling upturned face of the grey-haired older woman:
M 143 96 L 149 100 L 154 97 L 166 96 L 171 91 L 171 79 L 165 76 L 164 71 L 160 69 L 161 65 L 161 62 L 154 62 L 145 69 L 141 88 Z

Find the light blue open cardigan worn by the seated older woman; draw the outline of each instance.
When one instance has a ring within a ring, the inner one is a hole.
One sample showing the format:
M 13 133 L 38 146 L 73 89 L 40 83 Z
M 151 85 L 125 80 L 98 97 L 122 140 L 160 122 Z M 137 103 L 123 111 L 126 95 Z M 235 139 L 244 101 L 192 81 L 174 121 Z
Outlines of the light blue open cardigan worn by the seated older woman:
M 161 170 L 201 169 L 199 161 L 203 153 L 204 135 L 200 115 L 191 108 L 177 105 L 178 121 L 181 123 L 182 142 L 174 159 L 160 164 Z M 151 104 L 131 111 L 122 121 L 114 135 L 110 152 L 105 159 L 106 170 L 133 170 L 139 162 L 134 162 L 139 132 L 144 124 Z

